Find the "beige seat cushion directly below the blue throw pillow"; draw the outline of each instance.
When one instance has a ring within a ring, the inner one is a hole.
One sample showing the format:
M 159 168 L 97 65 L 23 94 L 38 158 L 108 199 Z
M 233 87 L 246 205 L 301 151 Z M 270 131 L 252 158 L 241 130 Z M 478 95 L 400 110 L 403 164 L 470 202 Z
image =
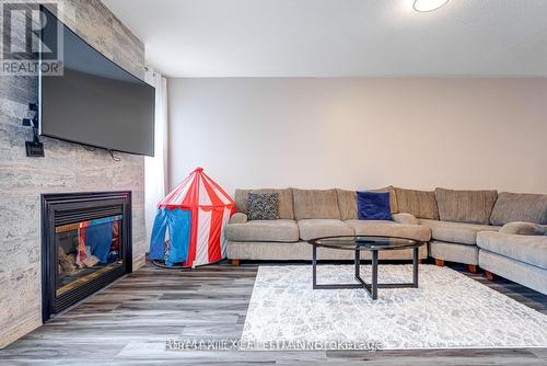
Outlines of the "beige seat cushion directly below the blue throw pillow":
M 431 239 L 431 230 L 419 225 L 397 224 L 387 220 L 347 220 L 346 224 L 353 228 L 358 236 L 399 237 L 419 241 Z

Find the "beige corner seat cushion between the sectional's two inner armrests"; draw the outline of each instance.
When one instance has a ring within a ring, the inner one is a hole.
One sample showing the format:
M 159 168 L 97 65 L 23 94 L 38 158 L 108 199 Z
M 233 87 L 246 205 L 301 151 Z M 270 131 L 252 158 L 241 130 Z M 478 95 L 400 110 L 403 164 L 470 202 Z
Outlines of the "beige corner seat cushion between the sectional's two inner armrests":
M 477 244 L 477 232 L 479 231 L 498 231 L 497 226 L 450 222 L 419 219 L 420 225 L 431 229 L 431 237 L 435 240 L 449 241 L 458 244 Z

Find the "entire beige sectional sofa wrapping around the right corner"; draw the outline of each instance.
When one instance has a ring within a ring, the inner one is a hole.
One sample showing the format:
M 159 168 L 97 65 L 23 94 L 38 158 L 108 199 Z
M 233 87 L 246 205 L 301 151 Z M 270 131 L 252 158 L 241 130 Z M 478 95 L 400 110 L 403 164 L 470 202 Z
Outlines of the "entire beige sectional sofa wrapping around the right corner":
M 310 260 L 312 238 L 336 235 L 394 236 L 429 242 L 429 255 L 477 266 L 547 294 L 547 195 L 496 191 L 389 192 L 393 221 L 358 220 L 357 196 L 345 190 L 236 190 L 235 214 L 225 228 L 228 258 Z M 249 192 L 278 193 L 278 220 L 248 221 Z M 532 233 L 532 235 L 531 235 Z M 319 260 L 351 260 L 352 253 L 318 251 Z M 369 253 L 361 253 L 369 259 Z M 385 251 L 381 260 L 410 260 L 411 251 Z

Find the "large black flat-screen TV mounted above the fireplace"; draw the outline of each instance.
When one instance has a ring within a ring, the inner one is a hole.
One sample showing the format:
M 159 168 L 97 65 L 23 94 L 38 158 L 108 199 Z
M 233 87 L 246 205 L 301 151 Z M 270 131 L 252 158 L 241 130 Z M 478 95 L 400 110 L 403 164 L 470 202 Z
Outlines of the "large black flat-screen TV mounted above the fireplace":
M 44 10 L 44 44 L 62 32 L 63 75 L 40 76 L 39 134 L 116 151 L 154 155 L 154 88 L 124 70 Z M 116 52 L 116 50 L 114 50 Z

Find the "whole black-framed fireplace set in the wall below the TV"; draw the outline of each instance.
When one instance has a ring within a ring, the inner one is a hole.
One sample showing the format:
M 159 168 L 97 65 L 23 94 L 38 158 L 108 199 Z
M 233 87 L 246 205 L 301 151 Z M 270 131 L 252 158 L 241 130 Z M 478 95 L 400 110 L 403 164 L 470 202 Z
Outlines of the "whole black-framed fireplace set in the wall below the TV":
M 42 195 L 42 318 L 131 272 L 131 192 Z

